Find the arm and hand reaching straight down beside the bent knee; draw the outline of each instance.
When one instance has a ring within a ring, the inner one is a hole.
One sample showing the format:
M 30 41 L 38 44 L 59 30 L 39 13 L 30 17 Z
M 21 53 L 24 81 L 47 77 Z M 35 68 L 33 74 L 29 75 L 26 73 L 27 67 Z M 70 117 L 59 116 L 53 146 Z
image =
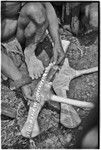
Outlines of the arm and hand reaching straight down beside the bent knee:
M 50 3 L 46 2 L 44 3 L 44 6 L 46 8 L 46 14 L 49 23 L 49 32 L 54 42 L 54 48 L 53 48 L 54 62 L 58 64 L 64 58 L 64 51 L 59 36 L 58 19 L 55 10 Z

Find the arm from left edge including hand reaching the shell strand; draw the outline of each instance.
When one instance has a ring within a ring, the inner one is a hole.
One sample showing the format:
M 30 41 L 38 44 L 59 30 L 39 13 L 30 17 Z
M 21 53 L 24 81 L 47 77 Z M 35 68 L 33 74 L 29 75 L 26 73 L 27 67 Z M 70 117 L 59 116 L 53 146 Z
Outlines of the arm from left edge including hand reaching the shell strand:
M 27 78 L 27 81 L 22 77 L 21 72 L 14 65 L 10 57 L 1 51 L 1 71 L 14 81 L 13 88 L 22 88 L 25 98 L 33 100 L 31 97 L 31 89 L 29 83 L 31 79 Z

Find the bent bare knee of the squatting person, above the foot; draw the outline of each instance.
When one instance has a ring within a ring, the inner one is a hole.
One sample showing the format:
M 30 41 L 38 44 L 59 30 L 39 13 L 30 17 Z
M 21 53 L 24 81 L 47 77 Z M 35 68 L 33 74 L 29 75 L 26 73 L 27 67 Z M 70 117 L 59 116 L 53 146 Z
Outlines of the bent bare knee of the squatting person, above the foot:
M 48 24 L 45 8 L 41 3 L 27 3 L 21 9 L 18 19 L 17 39 L 26 45 L 40 40 Z

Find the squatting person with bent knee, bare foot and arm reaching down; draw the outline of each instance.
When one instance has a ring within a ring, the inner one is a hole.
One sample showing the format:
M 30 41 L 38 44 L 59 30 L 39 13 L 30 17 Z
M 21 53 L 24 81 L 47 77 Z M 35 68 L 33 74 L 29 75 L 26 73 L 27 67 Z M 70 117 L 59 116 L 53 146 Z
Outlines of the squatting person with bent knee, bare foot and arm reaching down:
M 35 49 L 43 40 L 46 29 L 49 29 L 54 42 L 54 61 L 58 63 L 64 53 L 58 33 L 58 20 L 52 5 L 47 2 L 26 3 L 20 11 L 17 39 L 22 46 L 25 44 L 25 61 L 32 79 L 40 77 L 44 70 L 42 62 L 35 56 Z

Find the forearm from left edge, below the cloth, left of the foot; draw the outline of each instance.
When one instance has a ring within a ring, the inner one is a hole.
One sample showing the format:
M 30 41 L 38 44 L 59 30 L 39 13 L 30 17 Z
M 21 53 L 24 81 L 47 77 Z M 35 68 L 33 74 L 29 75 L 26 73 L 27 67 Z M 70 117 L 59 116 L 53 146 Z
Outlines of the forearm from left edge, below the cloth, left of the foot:
M 22 76 L 22 73 L 14 65 L 12 59 L 3 52 L 1 52 L 1 71 L 12 79 L 10 83 L 11 90 L 23 87 L 32 81 L 28 75 Z

